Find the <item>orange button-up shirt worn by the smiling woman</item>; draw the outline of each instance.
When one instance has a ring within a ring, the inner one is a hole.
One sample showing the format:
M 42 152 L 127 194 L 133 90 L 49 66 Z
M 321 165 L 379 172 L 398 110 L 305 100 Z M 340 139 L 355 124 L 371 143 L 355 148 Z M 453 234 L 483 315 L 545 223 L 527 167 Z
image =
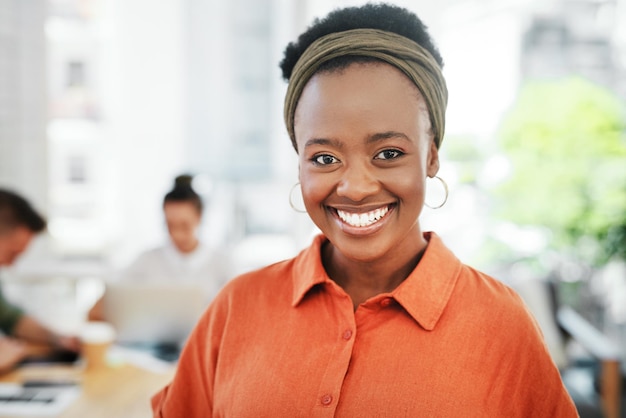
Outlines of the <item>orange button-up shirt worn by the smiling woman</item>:
M 356 311 L 322 266 L 323 236 L 231 281 L 154 416 L 577 416 L 520 298 L 425 236 L 409 277 Z

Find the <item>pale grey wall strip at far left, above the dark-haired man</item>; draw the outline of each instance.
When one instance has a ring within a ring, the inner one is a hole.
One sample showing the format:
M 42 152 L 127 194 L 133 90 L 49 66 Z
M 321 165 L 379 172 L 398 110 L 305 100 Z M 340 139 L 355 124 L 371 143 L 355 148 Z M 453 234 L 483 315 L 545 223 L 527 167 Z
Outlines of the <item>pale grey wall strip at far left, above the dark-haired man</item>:
M 0 187 L 47 206 L 45 3 L 0 0 Z

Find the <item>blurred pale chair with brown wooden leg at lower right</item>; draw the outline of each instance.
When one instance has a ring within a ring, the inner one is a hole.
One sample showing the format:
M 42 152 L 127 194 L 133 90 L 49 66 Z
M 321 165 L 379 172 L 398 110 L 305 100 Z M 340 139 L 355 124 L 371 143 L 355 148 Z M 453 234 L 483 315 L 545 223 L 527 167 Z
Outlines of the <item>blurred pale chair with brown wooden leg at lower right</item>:
M 618 345 L 572 308 L 559 306 L 553 283 L 525 279 L 509 285 L 535 316 L 581 418 L 623 417 Z

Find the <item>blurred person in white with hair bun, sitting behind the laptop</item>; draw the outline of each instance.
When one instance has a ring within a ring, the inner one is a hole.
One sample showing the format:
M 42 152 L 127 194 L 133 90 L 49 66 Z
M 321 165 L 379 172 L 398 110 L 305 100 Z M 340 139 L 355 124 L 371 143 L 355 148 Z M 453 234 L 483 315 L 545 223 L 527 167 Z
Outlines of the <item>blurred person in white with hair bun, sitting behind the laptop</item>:
M 168 242 L 139 255 L 120 273 L 117 281 L 199 284 L 210 301 L 230 278 L 231 263 L 227 254 L 198 238 L 204 202 L 192 182 L 193 177 L 187 174 L 176 177 L 174 188 L 163 198 Z M 91 310 L 89 318 L 105 319 L 102 299 Z

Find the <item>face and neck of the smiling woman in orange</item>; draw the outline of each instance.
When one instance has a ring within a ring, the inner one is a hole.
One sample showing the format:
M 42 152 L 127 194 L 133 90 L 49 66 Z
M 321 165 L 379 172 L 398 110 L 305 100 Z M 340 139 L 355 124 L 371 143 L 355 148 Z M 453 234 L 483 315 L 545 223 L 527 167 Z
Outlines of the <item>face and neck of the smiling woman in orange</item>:
M 416 221 L 426 176 L 437 173 L 439 159 L 427 113 L 420 117 L 425 112 L 415 84 L 379 62 L 318 72 L 300 96 L 295 136 L 302 195 L 332 242 L 325 248 L 336 252 L 326 258 L 342 276 L 333 279 L 360 289 L 359 297 L 351 295 L 355 306 L 393 290 L 426 248 Z M 373 267 L 386 273 L 371 280 Z

